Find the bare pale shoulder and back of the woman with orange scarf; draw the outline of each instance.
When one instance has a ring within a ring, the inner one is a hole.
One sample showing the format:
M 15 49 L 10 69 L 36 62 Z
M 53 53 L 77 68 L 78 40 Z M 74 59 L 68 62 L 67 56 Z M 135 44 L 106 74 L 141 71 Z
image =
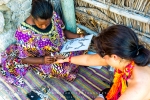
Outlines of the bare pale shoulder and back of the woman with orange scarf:
M 135 66 L 128 87 L 119 100 L 150 100 L 150 67 Z

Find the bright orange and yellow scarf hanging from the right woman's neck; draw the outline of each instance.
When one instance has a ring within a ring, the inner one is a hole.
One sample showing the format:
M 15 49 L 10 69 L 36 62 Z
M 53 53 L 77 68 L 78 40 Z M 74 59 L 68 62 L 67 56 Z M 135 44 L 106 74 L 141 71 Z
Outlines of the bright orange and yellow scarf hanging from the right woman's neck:
M 125 92 L 127 88 L 126 82 L 132 76 L 133 68 L 134 61 L 131 61 L 123 71 L 115 70 L 114 83 L 106 96 L 107 100 L 117 100 Z

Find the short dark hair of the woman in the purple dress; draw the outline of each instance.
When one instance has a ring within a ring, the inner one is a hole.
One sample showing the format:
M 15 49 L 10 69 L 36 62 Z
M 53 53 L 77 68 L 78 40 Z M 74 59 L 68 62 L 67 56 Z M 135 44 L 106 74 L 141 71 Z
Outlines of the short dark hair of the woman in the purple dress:
M 31 15 L 37 19 L 48 19 L 53 15 L 53 7 L 49 1 L 46 0 L 33 0 Z

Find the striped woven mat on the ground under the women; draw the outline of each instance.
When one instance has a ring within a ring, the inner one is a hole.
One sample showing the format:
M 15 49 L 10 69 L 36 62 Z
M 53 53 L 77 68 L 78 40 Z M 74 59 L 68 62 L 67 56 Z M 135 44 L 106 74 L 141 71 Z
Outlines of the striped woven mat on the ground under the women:
M 40 90 L 41 86 L 47 86 L 49 91 L 46 94 L 49 100 L 65 100 L 63 93 L 67 90 L 71 91 L 76 100 L 93 100 L 101 90 L 109 87 L 109 78 L 109 71 L 104 67 L 102 69 L 80 67 L 74 82 L 56 78 L 42 79 L 30 71 L 24 78 L 26 86 L 21 88 L 8 84 L 0 74 L 0 98 L 3 100 L 27 100 L 28 92 L 33 89 Z

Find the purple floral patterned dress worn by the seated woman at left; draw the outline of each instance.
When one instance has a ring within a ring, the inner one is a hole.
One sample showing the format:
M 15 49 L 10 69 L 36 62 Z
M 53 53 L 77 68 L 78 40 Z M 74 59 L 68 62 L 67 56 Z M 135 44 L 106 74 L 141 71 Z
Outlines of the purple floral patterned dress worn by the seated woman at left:
M 60 54 L 65 42 L 64 24 L 54 12 L 51 26 L 43 32 L 36 27 L 23 22 L 15 33 L 16 44 L 9 46 L 2 55 L 2 73 L 8 82 L 16 86 L 24 86 L 23 76 L 28 70 L 33 70 L 41 77 L 57 77 L 73 81 L 78 72 L 78 66 L 70 63 L 31 65 L 22 64 L 21 58 L 43 57 L 45 55 Z M 63 56 L 81 55 L 84 51 L 62 53 Z

